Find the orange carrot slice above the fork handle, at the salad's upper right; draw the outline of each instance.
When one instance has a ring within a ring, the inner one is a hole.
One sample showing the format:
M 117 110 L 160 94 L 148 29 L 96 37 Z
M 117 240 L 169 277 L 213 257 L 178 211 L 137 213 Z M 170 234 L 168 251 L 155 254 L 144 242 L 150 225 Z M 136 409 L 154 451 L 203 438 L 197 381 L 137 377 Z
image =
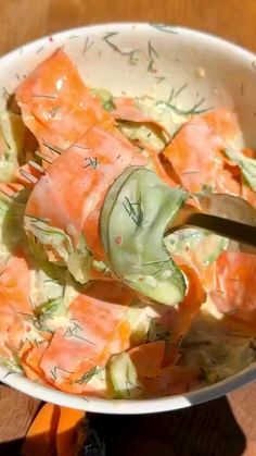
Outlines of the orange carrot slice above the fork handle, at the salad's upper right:
M 220 151 L 226 141 L 239 134 L 234 114 L 220 109 L 208 114 L 194 115 L 165 148 L 182 185 L 190 192 L 200 192 L 209 185 L 219 193 L 240 194 L 240 185 L 223 169 Z

